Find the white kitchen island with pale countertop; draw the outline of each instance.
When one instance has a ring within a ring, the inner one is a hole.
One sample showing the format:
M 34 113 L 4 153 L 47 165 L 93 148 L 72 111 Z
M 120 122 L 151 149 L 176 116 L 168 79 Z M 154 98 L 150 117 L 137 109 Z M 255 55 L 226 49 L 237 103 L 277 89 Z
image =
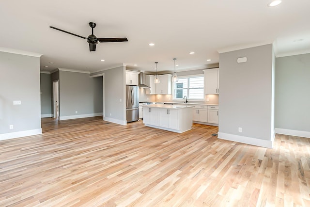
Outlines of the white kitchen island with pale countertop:
M 192 128 L 192 108 L 189 105 L 143 105 L 143 124 L 182 133 Z

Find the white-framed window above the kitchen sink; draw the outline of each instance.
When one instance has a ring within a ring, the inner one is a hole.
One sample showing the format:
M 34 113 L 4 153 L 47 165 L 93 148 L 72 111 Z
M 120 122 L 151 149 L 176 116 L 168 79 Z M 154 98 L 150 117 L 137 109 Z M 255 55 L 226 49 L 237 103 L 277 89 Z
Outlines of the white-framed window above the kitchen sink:
M 173 85 L 173 99 L 204 99 L 203 86 L 203 75 L 179 78 Z

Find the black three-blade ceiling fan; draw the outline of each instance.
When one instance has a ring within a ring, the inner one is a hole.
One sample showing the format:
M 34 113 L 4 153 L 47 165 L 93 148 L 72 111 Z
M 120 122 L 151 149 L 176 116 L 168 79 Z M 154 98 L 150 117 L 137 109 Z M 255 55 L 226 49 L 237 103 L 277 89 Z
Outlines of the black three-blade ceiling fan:
M 50 26 L 50 28 L 55 29 L 55 30 L 59 30 L 61 32 L 65 32 L 65 33 L 68 33 L 68 34 L 72 34 L 74 36 L 77 36 L 77 37 L 80 37 L 80 38 L 83 38 L 83 39 L 87 39 L 87 42 L 89 43 L 89 51 L 96 51 L 96 45 L 98 44 L 98 41 L 99 42 L 127 42 L 128 41 L 128 39 L 126 37 L 119 37 L 119 38 L 117 38 L 117 37 L 114 37 L 114 38 L 97 38 L 93 34 L 93 28 L 96 27 L 96 23 L 90 22 L 89 26 L 92 28 L 92 34 L 90 34 L 88 37 L 83 37 L 83 36 L 80 36 L 78 34 L 74 34 L 72 32 L 67 32 L 67 31 L 58 29 L 56 27 L 52 27 L 52 26 Z

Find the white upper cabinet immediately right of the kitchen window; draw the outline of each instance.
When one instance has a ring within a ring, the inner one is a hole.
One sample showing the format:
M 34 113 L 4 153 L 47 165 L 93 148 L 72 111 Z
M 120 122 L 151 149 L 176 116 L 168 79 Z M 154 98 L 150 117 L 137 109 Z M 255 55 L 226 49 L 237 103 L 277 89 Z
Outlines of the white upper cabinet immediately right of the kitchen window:
M 204 72 L 204 94 L 219 94 L 218 68 L 206 69 Z

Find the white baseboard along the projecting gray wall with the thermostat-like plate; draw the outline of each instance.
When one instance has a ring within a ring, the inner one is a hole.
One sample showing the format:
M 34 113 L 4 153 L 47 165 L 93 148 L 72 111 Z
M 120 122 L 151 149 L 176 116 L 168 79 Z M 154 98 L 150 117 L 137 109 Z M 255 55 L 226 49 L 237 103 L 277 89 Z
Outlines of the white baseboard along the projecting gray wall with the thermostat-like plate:
M 272 140 L 261 140 L 261 139 L 257 139 L 253 137 L 245 137 L 245 136 L 227 134 L 227 133 L 222 133 L 222 132 L 217 132 L 217 138 L 223 139 L 223 140 L 229 140 L 233 142 L 238 142 L 238 143 L 246 143 L 246 144 L 251 144 L 255 146 L 262 146 L 266 148 L 272 148 L 272 144 L 275 139 L 274 136 Z

